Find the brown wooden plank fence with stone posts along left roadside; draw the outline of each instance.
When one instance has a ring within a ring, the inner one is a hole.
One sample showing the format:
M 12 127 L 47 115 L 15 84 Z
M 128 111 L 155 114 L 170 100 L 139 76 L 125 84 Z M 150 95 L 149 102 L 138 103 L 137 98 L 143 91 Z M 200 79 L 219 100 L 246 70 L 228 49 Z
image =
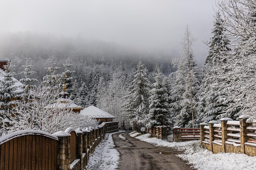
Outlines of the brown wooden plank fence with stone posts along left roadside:
M 0 137 L 0 170 L 84 170 L 89 154 L 118 122 L 48 134 L 17 131 Z

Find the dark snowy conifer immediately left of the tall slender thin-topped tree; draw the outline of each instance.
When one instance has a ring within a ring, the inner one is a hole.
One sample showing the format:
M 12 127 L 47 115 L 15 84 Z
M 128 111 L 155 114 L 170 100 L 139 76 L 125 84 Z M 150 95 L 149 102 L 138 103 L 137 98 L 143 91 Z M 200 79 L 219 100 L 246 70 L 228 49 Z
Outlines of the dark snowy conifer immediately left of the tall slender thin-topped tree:
M 148 128 L 153 128 L 156 125 L 170 125 L 170 110 L 169 98 L 166 83 L 164 82 L 164 74 L 160 68 L 156 68 L 155 83 L 152 84 L 153 89 L 150 90 L 149 97 L 149 122 L 146 125 Z

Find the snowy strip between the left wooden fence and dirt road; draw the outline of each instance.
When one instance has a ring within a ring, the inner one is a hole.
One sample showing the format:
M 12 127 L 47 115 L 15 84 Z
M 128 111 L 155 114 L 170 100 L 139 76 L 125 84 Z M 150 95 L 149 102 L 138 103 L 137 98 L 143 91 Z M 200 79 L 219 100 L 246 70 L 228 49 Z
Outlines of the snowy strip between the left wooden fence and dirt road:
M 115 132 L 120 133 L 120 132 Z M 105 138 L 90 154 L 86 170 L 115 170 L 120 162 L 120 154 L 114 149 L 112 134 L 106 133 Z

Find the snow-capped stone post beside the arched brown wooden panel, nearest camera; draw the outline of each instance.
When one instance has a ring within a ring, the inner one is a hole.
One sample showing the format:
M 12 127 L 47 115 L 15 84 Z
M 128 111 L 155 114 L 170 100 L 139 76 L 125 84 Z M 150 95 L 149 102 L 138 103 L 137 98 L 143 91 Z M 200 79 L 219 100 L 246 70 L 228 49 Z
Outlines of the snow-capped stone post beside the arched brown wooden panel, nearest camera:
M 58 137 L 57 168 L 58 170 L 70 170 L 70 134 L 58 131 L 53 134 Z

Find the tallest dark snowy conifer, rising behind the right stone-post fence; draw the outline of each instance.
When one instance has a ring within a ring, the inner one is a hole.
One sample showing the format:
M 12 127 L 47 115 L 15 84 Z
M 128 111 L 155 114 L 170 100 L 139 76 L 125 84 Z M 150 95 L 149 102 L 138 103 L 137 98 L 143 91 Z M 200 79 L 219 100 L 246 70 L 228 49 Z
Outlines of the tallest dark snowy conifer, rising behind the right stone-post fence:
M 224 79 L 216 79 L 215 76 L 219 73 L 215 70 L 222 68 L 227 63 L 227 56 L 231 48 L 230 41 L 225 36 L 225 28 L 223 27 L 224 20 L 220 16 L 220 12 L 216 13 L 215 21 L 213 22 L 212 34 L 209 41 L 208 55 L 204 63 L 204 79 L 200 88 L 200 102 L 198 110 L 200 111 L 200 120 L 209 122 L 216 120 L 216 117 L 225 111 L 227 104 L 223 104 L 227 96 L 220 87 L 214 87 L 214 84 L 225 81 Z

